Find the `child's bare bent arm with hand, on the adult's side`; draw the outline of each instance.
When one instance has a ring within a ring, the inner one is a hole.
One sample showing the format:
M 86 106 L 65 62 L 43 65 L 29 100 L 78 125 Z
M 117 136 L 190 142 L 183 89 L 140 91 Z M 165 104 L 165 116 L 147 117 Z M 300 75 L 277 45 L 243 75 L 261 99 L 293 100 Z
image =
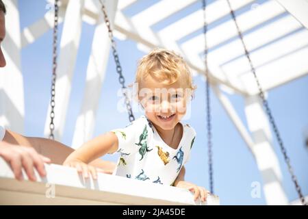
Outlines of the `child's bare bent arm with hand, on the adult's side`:
M 97 171 L 93 166 L 88 166 L 90 162 L 106 153 L 114 153 L 118 149 L 118 138 L 116 134 L 107 132 L 93 140 L 86 142 L 79 149 L 68 155 L 64 161 L 64 166 L 77 168 L 85 178 L 91 173 L 93 179 L 97 179 Z

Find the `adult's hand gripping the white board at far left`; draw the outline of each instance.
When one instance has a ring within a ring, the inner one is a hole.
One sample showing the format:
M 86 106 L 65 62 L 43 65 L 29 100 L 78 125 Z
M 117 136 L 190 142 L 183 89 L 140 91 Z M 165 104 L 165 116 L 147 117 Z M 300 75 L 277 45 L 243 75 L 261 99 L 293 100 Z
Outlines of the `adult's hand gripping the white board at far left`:
M 36 181 L 34 168 L 36 168 L 40 177 L 45 177 L 44 163 L 51 162 L 48 157 L 38 154 L 31 147 L 17 146 L 5 142 L 0 142 L 0 156 L 10 164 L 15 178 L 18 180 L 23 180 L 22 169 L 25 170 L 27 177 L 31 181 Z

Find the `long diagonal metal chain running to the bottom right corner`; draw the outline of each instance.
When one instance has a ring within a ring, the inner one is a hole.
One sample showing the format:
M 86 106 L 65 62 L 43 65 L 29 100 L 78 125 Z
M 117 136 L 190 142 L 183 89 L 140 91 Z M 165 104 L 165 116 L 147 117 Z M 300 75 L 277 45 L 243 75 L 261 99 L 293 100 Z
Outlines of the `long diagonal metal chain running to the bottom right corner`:
M 265 95 L 264 95 L 264 91 L 262 90 L 261 88 L 261 85 L 259 83 L 259 79 L 257 78 L 257 75 L 255 73 L 255 67 L 253 66 L 253 62 L 251 61 L 251 57 L 248 53 L 248 50 L 247 50 L 247 47 L 246 47 L 246 44 L 244 43 L 244 38 L 243 38 L 243 35 L 242 35 L 242 32 L 240 31 L 240 27 L 238 26 L 238 22 L 236 21 L 236 18 L 235 18 L 235 14 L 231 8 L 231 4 L 230 4 L 230 1 L 227 0 L 228 4 L 229 4 L 229 8 L 230 8 L 230 11 L 231 11 L 231 16 L 233 18 L 233 21 L 236 25 L 236 28 L 238 29 L 238 36 L 240 36 L 240 40 L 242 41 L 242 44 L 243 44 L 243 47 L 244 47 L 244 51 L 245 51 L 245 55 L 248 59 L 248 62 L 251 66 L 251 71 L 253 72 L 253 76 L 255 77 L 255 81 L 257 82 L 257 86 L 258 86 L 258 89 L 259 89 L 259 96 L 262 100 L 262 103 L 266 109 L 266 114 L 268 114 L 268 118 L 270 120 L 270 124 L 272 125 L 272 129 L 274 130 L 274 133 L 275 133 L 275 136 L 277 138 L 277 141 L 279 143 L 279 146 L 280 146 L 280 149 L 281 149 L 281 152 L 283 153 L 283 157 L 285 159 L 285 163 L 287 164 L 287 168 L 290 172 L 290 175 L 292 176 L 292 181 L 295 185 L 295 188 L 296 188 L 296 191 L 298 193 L 298 196 L 300 198 L 300 201 L 302 202 L 303 205 L 307 205 L 306 201 L 305 201 L 305 198 L 300 190 L 300 185 L 298 184 L 298 180 L 296 178 L 296 176 L 294 175 L 294 170 L 291 166 L 291 163 L 290 163 L 290 158 L 287 156 L 287 151 L 285 150 L 285 147 L 283 146 L 283 141 L 281 139 L 281 136 L 280 136 L 280 133 L 279 133 L 279 130 L 277 128 L 277 125 L 274 121 L 274 117 L 272 116 L 272 112 L 270 111 L 270 107 L 268 105 L 268 101 L 266 100 L 265 98 Z

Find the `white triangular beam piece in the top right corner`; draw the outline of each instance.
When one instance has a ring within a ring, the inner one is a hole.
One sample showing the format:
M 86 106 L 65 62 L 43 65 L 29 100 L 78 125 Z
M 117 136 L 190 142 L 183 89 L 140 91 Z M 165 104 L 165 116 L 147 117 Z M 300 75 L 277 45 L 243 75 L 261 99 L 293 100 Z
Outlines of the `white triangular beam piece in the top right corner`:
M 276 0 L 285 10 L 290 12 L 298 22 L 308 29 L 308 1 L 307 0 Z

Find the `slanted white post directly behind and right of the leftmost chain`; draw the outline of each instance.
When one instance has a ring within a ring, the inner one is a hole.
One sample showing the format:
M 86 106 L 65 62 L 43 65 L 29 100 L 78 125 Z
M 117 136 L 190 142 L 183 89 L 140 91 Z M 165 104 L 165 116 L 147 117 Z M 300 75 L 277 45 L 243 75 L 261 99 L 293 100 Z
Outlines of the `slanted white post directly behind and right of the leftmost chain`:
M 54 118 L 54 136 L 56 140 L 61 140 L 64 125 L 66 122 L 66 113 L 70 99 L 70 89 L 72 85 L 73 72 L 79 49 L 79 40 L 81 36 L 81 14 L 84 8 L 84 0 L 68 1 L 64 26 L 60 43 L 60 57 L 57 66 L 57 81 L 55 83 L 55 118 Z M 47 113 L 44 135 L 49 135 L 49 114 Z

